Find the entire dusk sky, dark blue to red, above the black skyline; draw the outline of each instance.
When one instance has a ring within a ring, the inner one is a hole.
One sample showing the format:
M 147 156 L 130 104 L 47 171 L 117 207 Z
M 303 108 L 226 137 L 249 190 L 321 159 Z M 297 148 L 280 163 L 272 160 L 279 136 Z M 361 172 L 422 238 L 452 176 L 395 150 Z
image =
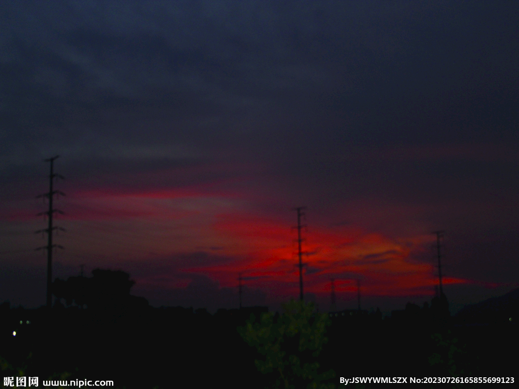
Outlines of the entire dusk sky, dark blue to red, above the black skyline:
M 519 286 L 519 7 L 0 3 L 0 301 L 124 270 L 158 307 L 463 304 Z

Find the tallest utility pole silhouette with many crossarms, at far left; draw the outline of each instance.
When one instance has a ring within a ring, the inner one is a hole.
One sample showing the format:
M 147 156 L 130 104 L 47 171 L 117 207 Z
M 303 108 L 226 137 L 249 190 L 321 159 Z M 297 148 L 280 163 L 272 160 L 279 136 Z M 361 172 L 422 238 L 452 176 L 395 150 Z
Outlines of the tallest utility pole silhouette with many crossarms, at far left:
M 65 196 L 65 193 L 59 191 L 59 190 L 53 190 L 53 181 L 54 178 L 59 177 L 63 179 L 63 176 L 59 174 L 54 173 L 54 160 L 58 158 L 59 156 L 52 157 L 49 159 L 45 159 L 44 162 L 50 162 L 50 175 L 49 175 L 49 191 L 48 193 L 44 193 L 43 195 L 39 195 L 36 198 L 48 198 L 49 199 L 49 210 L 47 212 L 41 212 L 38 214 L 38 216 L 41 215 L 48 215 L 49 217 L 49 227 L 43 230 L 36 231 L 36 233 L 43 232 L 47 233 L 47 246 L 38 247 L 36 250 L 40 249 L 47 249 L 47 308 L 50 309 L 52 307 L 52 248 L 59 247 L 63 248 L 63 246 L 60 246 L 58 244 L 52 244 L 52 231 L 53 230 L 61 230 L 65 231 L 64 228 L 61 227 L 53 227 L 52 226 L 52 215 L 54 213 L 60 213 L 63 215 L 63 212 L 57 209 L 53 209 L 52 207 L 52 199 L 54 198 L 54 195 L 62 195 Z

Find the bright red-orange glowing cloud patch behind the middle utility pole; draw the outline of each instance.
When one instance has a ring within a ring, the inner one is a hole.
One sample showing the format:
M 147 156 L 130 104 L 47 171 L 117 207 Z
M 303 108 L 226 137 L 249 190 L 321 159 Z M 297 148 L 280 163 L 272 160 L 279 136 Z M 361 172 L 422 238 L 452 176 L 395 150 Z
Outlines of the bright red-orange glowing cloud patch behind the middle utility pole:
M 186 270 L 202 272 L 226 286 L 234 285 L 241 272 L 251 287 L 297 295 L 296 231 L 274 220 L 237 214 L 218 216 L 214 229 L 228 240 L 234 239 L 230 251 L 243 259 L 231 266 Z M 437 282 L 432 262 L 413 259 L 424 244 L 432 241 L 428 235 L 395 241 L 360 229 L 314 227 L 304 237 L 307 292 L 329 294 L 331 278 L 336 280 L 337 291 L 355 290 L 351 280 L 361 279 L 363 294 L 372 296 L 431 294 Z M 467 282 L 445 279 L 446 284 Z

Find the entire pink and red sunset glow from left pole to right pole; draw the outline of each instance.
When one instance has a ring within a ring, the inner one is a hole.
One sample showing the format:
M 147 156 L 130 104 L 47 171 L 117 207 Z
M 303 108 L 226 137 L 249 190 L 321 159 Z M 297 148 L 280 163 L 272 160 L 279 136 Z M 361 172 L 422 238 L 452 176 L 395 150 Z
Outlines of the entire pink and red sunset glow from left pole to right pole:
M 235 286 L 242 273 L 251 288 L 268 290 L 272 296 L 298 295 L 297 231 L 286 220 L 252 212 L 250 203 L 236 193 L 196 188 L 76 191 L 65 205 L 71 211 L 65 227 L 71 232 L 63 244 L 73 253 L 141 261 L 217 254 L 227 259 L 186 260 L 175 269 L 209 276 L 224 287 Z M 332 278 L 338 293 L 356 290 L 354 280 L 360 279 L 364 296 L 431 294 L 437 283 L 433 258 L 417 259 L 432 243 L 431 235 L 395 239 L 354 226 L 312 225 L 303 230 L 303 238 L 308 293 L 329 294 Z M 160 280 L 148 277 L 146 282 L 187 285 L 187 279 L 175 274 L 161 274 Z M 445 284 L 469 282 L 444 279 Z

